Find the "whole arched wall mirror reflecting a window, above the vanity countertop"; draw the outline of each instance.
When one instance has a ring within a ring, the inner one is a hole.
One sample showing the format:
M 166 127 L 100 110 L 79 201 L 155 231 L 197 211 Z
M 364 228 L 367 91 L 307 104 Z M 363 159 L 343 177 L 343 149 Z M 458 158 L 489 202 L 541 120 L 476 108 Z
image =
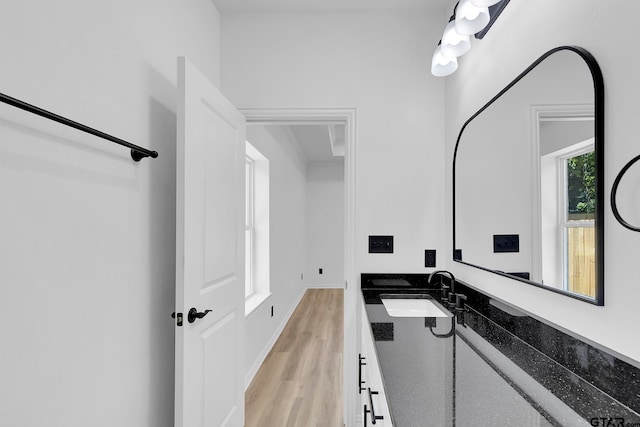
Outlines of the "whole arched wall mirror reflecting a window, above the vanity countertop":
M 454 260 L 604 304 L 604 84 L 591 54 L 545 53 L 462 126 Z

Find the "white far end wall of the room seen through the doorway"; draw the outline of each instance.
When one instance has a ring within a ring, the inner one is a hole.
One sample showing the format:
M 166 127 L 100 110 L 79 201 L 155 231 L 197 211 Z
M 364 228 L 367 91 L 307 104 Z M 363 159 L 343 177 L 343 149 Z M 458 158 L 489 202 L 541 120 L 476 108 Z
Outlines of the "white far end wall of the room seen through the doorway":
M 307 163 L 306 208 L 305 282 L 344 287 L 344 162 Z

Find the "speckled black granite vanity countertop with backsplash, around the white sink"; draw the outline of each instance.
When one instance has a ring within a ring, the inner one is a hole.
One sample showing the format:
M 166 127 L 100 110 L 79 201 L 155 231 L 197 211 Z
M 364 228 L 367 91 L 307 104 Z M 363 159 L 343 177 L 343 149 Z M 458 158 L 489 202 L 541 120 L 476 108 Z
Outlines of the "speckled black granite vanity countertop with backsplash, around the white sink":
M 362 275 L 395 427 L 640 426 L 638 368 L 464 284 L 452 317 L 389 316 L 380 294 L 439 300 L 426 277 Z

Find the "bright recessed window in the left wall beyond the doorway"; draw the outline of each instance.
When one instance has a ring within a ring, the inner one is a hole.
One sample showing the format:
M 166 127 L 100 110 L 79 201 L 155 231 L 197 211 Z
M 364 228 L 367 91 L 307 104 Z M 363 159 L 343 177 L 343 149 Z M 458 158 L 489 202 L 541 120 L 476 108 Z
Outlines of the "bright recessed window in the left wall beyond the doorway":
M 269 160 L 249 142 L 245 159 L 245 314 L 270 295 Z

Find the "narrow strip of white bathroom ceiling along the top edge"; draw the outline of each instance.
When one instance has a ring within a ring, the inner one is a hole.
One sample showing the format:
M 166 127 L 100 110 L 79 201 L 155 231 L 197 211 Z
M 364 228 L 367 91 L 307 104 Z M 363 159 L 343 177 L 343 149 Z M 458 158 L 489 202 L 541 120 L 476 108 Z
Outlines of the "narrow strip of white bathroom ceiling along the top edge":
M 441 12 L 446 0 L 213 0 L 219 12 L 348 12 L 423 10 Z

